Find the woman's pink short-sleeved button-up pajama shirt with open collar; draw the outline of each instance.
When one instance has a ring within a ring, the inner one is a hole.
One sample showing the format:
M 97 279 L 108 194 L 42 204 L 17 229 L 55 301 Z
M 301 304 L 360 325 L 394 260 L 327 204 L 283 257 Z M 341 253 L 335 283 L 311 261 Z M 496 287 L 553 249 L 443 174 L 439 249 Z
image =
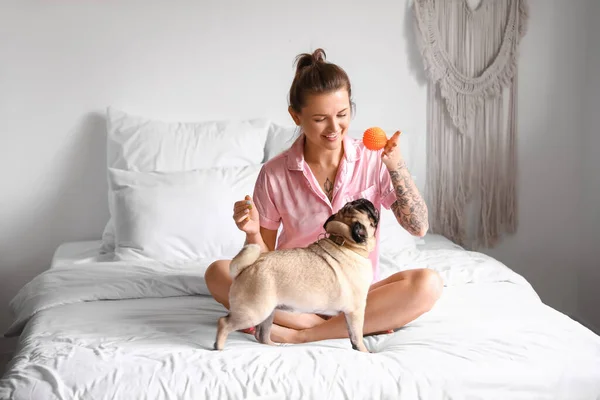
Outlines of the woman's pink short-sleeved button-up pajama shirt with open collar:
M 330 202 L 304 160 L 304 135 L 262 167 L 254 188 L 254 204 L 263 228 L 282 230 L 277 249 L 305 247 L 325 230 L 323 224 L 347 202 L 370 200 L 377 210 L 396 201 L 390 174 L 381 161 L 381 150 L 371 151 L 360 140 L 343 138 L 344 157 L 338 168 Z M 379 280 L 379 229 L 369 258 L 374 282 Z

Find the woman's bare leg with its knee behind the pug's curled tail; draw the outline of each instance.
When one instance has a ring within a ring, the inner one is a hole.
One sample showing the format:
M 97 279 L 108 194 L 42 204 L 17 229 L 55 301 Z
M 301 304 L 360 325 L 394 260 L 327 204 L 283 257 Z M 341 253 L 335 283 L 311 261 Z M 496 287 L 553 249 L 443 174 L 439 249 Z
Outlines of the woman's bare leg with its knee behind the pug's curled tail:
M 230 260 L 215 261 L 204 274 L 206 286 L 211 295 L 227 309 L 229 309 L 229 288 L 232 282 L 229 275 L 230 262 Z M 325 319 L 315 314 L 298 314 L 279 310 L 275 312 L 275 318 L 273 319 L 275 325 L 295 330 L 312 328 L 323 322 L 325 322 Z

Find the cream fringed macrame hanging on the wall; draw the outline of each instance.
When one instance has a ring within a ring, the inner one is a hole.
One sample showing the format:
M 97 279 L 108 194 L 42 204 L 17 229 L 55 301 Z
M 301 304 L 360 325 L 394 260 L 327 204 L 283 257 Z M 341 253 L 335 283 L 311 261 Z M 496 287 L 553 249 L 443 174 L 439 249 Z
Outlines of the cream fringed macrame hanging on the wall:
M 430 230 L 470 248 L 517 227 L 517 50 L 528 18 L 525 0 L 478 2 L 413 3 L 429 78 Z

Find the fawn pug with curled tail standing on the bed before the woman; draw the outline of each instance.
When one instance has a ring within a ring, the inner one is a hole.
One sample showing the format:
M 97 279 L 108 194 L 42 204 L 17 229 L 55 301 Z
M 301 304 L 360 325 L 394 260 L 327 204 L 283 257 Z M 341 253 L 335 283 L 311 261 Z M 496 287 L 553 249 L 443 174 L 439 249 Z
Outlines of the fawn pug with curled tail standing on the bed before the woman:
M 231 332 L 249 327 L 256 327 L 260 343 L 273 345 L 275 310 L 285 310 L 344 313 L 352 348 L 368 352 L 363 324 L 378 224 L 373 203 L 358 199 L 330 216 L 323 225 L 326 235 L 308 247 L 261 254 L 256 244 L 244 246 L 229 267 L 230 310 L 219 318 L 215 349 L 223 349 Z

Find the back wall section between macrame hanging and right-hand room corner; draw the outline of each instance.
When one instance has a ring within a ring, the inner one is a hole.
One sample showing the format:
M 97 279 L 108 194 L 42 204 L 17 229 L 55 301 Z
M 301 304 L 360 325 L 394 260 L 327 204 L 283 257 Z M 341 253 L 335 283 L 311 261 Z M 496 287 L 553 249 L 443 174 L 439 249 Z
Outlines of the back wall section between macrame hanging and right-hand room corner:
M 519 230 L 486 251 L 572 316 L 578 316 L 586 8 L 587 0 L 530 1 L 519 65 Z

